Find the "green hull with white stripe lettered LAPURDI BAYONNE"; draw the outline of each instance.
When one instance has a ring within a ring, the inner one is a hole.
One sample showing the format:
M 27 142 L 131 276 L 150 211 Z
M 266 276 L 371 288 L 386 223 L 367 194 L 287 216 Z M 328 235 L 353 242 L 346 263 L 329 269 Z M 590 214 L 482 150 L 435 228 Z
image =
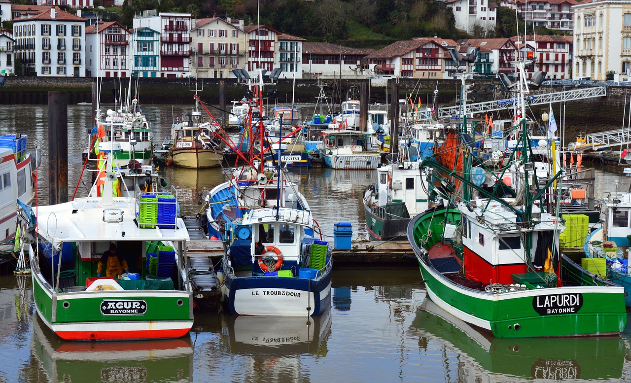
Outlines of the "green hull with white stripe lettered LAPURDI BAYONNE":
M 439 273 L 417 240 L 425 239 L 423 236 L 428 232 L 432 233 L 430 236 L 440 236 L 440 223 L 444 222 L 440 217 L 447 214 L 454 221 L 459 211 L 429 209 L 413 218 L 408 226 L 408 239 L 427 294 L 441 309 L 490 331 L 496 338 L 596 336 L 619 334 L 624 329 L 627 313 L 624 292 L 618 286 L 563 286 L 491 293 L 465 287 Z

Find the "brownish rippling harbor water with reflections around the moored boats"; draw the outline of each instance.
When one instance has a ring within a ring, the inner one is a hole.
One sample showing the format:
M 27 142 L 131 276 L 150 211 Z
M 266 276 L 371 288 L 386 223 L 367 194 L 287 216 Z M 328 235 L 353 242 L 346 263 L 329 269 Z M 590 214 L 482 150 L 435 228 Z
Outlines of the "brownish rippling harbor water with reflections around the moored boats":
M 312 112 L 313 107 L 304 106 Z M 154 142 L 170 131 L 171 110 L 143 105 Z M 70 105 L 69 196 L 85 196 L 81 152 L 90 107 Z M 40 145 L 38 202 L 47 204 L 47 109 L 0 109 L 0 133 L 28 134 Z M 587 165 L 587 164 L 585 164 Z M 362 194 L 367 170 L 293 170 L 324 233 L 350 221 L 365 235 Z M 177 190 L 181 213 L 195 215 L 199 192 L 225 180 L 221 169 L 162 167 Z M 596 198 L 627 191 L 617 168 L 596 172 Z M 617 182 L 617 183 L 616 183 Z M 332 240 L 332 238 L 329 238 Z M 628 319 L 631 323 L 631 318 Z M 30 280 L 0 276 L 0 382 L 521 382 L 631 380 L 631 324 L 620 337 L 492 339 L 462 326 L 428 301 L 418 268 L 336 268 L 331 309 L 315 318 L 236 317 L 196 312 L 189 336 L 167 341 L 69 343 L 38 320 Z

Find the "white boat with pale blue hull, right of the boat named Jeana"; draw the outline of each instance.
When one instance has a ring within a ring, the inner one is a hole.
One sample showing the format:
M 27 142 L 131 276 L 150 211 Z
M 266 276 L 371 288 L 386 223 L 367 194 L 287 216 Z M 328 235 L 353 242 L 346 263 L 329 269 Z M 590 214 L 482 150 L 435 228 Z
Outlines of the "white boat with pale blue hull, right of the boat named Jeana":
M 376 169 L 381 163 L 381 153 L 366 132 L 351 129 L 322 131 L 322 141 L 317 144 L 317 149 L 324 165 L 334 169 Z

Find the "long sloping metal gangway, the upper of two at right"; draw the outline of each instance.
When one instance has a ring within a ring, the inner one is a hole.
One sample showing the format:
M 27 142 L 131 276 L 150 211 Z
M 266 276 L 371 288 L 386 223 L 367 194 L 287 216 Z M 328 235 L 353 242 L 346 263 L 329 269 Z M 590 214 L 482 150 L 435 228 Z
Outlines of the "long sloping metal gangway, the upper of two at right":
M 605 86 L 585 86 L 572 90 L 555 91 L 552 93 L 542 93 L 540 95 L 527 95 L 527 105 L 545 105 L 546 103 L 565 102 L 572 100 L 582 100 L 584 98 L 603 97 L 607 95 Z M 467 103 L 467 114 L 484 114 L 495 110 L 506 110 L 510 105 L 517 103 L 519 98 L 507 98 L 505 100 L 495 100 L 486 102 Z M 451 119 L 452 115 L 460 115 L 460 107 L 445 107 L 439 109 L 439 119 Z

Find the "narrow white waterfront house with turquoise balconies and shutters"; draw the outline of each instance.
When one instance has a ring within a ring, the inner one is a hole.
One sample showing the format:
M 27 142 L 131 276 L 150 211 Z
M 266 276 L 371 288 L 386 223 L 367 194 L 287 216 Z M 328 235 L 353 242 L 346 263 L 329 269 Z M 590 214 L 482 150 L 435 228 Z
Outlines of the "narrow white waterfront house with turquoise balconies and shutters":
M 131 30 L 134 77 L 160 77 L 160 32 L 149 27 Z

